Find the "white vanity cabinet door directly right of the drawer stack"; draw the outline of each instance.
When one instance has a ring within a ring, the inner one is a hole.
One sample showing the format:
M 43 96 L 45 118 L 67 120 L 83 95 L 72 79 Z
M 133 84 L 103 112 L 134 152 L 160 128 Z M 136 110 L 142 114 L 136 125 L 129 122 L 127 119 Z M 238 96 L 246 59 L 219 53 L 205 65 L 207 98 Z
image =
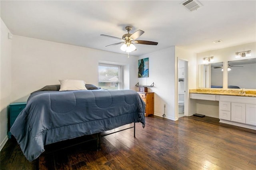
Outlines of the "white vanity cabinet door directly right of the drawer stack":
M 245 123 L 245 103 L 231 103 L 231 121 Z

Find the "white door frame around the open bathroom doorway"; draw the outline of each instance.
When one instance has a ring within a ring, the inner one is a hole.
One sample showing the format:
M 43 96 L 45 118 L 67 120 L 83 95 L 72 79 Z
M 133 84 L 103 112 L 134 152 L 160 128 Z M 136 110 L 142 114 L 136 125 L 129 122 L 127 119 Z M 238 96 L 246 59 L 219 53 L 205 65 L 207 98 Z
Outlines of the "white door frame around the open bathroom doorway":
M 188 116 L 188 60 L 182 59 L 178 57 L 178 61 L 182 60 L 184 61 L 184 116 Z M 179 71 L 178 67 L 177 70 Z M 179 73 L 178 73 L 179 75 Z M 178 76 L 177 76 L 177 87 L 178 87 Z M 178 102 L 178 97 L 179 97 L 179 89 L 177 88 L 177 108 L 179 108 L 179 102 Z M 177 109 L 177 118 L 179 119 L 179 109 Z

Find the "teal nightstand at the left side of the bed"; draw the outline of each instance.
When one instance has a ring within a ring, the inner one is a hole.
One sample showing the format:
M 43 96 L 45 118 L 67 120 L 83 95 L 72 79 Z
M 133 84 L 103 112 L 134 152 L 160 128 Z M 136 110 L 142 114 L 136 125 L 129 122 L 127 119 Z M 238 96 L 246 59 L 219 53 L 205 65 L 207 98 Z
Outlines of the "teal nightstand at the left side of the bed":
M 20 114 L 20 112 L 26 107 L 26 102 L 19 102 L 19 103 L 11 103 L 9 105 L 10 112 L 9 112 L 9 128 L 8 128 L 8 138 L 10 139 L 12 137 L 12 133 L 10 132 L 10 128 L 12 127 L 14 121 Z

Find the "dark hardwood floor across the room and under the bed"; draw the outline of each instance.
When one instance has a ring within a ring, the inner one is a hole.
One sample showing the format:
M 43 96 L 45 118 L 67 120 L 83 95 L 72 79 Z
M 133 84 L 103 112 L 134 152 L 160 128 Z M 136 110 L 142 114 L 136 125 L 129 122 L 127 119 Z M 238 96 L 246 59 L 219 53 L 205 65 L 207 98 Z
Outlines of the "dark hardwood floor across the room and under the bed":
M 12 139 L 0 152 L 0 169 L 256 169 L 256 130 L 210 117 L 146 117 L 144 129 L 136 123 L 136 138 L 133 129 L 124 130 L 102 137 L 101 150 L 95 148 L 88 142 L 29 162 Z

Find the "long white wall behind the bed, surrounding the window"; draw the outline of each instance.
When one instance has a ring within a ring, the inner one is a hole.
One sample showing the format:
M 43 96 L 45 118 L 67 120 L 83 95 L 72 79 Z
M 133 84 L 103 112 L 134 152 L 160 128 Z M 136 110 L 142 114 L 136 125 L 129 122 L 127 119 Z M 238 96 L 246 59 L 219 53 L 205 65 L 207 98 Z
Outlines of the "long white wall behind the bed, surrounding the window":
M 98 62 L 124 65 L 125 89 L 136 90 L 138 57 L 22 36 L 12 40 L 12 102 L 59 79 L 82 79 L 98 85 Z

